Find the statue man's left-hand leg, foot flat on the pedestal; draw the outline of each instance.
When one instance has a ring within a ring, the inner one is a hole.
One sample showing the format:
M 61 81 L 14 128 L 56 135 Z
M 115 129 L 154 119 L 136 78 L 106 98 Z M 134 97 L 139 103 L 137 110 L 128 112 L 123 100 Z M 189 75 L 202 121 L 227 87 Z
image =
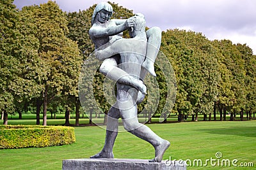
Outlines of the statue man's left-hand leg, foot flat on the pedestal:
M 105 144 L 99 153 L 90 157 L 91 159 L 114 158 L 113 146 L 115 143 L 116 136 L 118 134 L 118 118 L 120 118 L 119 110 L 114 107 L 111 107 L 108 111 Z

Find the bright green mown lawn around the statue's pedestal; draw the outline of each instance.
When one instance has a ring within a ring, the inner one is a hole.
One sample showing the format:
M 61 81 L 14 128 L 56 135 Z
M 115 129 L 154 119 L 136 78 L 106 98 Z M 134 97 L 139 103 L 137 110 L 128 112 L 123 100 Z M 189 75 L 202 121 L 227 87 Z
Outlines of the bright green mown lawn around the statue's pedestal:
M 23 120 L 23 122 L 26 120 Z M 35 120 L 33 120 L 35 121 Z M 10 121 L 12 122 L 12 121 Z M 9 122 L 9 123 L 10 123 Z M 0 122 L 1 123 L 1 122 Z M 164 160 L 173 159 L 237 159 L 253 162 L 253 167 L 208 166 L 188 169 L 255 169 L 256 167 L 256 121 L 244 122 L 182 122 L 176 124 L 149 124 L 154 132 L 171 142 Z M 0 169 L 61 169 L 61 160 L 88 158 L 99 152 L 104 145 L 105 130 L 96 126 L 75 127 L 76 143 L 49 148 L 24 148 L 0 150 Z M 116 158 L 152 159 L 154 148 L 128 132 L 120 132 L 116 139 Z

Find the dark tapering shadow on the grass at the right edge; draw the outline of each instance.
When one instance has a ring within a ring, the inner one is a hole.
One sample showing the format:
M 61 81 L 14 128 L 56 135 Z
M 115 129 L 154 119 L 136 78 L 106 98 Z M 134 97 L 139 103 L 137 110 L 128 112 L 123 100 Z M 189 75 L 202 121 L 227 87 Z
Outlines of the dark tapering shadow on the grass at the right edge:
M 225 135 L 237 135 L 246 137 L 256 137 L 256 127 L 246 126 L 246 127 L 227 127 L 227 128 L 212 128 L 212 129 L 196 129 L 196 131 L 207 132 L 210 134 L 225 134 Z

